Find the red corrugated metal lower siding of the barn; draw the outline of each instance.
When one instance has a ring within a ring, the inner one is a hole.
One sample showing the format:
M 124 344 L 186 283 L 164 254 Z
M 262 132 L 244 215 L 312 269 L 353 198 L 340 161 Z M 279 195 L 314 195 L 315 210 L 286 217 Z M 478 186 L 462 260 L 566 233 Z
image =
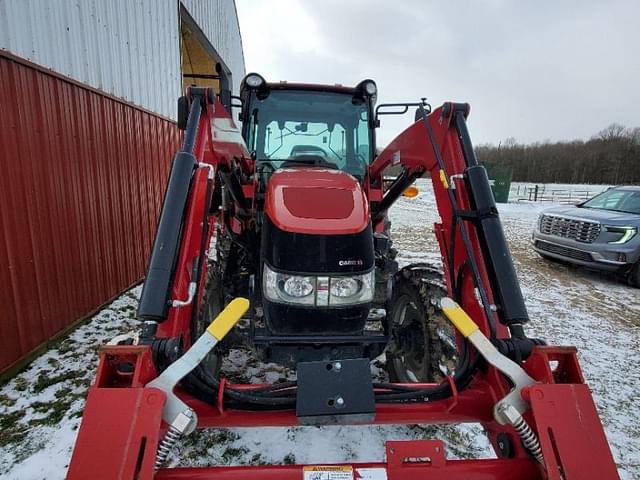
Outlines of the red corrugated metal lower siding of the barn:
M 0 52 L 0 372 L 144 275 L 178 142 L 170 121 Z

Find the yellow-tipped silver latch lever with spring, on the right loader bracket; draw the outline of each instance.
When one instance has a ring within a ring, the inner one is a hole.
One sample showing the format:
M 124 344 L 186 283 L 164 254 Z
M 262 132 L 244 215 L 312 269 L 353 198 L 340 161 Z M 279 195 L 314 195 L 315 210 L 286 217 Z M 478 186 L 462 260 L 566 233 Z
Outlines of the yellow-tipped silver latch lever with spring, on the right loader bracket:
M 511 391 L 494 405 L 493 417 L 500 425 L 512 425 L 522 438 L 522 443 L 527 450 L 544 465 L 538 437 L 522 418 L 522 414 L 529 409 L 529 405 L 520 392 L 536 381 L 520 365 L 501 354 L 460 305 L 445 297 L 440 300 L 440 306 L 442 313 L 460 334 L 467 338 L 484 359 L 502 372 L 513 384 Z

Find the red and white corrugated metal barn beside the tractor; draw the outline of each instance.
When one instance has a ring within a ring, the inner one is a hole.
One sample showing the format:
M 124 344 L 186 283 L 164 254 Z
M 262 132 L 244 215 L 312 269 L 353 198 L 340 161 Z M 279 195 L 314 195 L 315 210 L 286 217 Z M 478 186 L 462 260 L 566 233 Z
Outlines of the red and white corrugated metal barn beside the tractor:
M 233 0 L 0 0 L 0 374 L 142 279 L 176 100 L 244 74 Z

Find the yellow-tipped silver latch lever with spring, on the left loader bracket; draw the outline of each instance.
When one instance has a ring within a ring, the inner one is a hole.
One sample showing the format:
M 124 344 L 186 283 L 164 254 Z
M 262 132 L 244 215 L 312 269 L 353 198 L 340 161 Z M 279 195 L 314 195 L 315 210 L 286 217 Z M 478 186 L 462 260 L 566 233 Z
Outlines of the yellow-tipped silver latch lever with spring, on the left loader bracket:
M 193 432 L 198 424 L 196 413 L 173 393 L 173 389 L 180 380 L 200 364 L 202 359 L 229 333 L 248 309 L 249 300 L 246 298 L 232 300 L 189 350 L 145 386 L 145 388 L 162 390 L 167 396 L 167 402 L 162 410 L 162 420 L 169 425 L 169 430 L 158 445 L 156 470 L 164 464 L 180 437 Z

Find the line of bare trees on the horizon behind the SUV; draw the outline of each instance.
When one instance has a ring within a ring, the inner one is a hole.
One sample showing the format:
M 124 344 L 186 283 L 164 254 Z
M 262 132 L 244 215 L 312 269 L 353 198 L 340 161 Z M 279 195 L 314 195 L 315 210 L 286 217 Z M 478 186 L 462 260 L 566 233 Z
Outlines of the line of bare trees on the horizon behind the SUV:
M 640 127 L 613 123 L 587 141 L 523 145 L 509 138 L 475 151 L 488 167 L 511 169 L 514 182 L 640 184 Z

